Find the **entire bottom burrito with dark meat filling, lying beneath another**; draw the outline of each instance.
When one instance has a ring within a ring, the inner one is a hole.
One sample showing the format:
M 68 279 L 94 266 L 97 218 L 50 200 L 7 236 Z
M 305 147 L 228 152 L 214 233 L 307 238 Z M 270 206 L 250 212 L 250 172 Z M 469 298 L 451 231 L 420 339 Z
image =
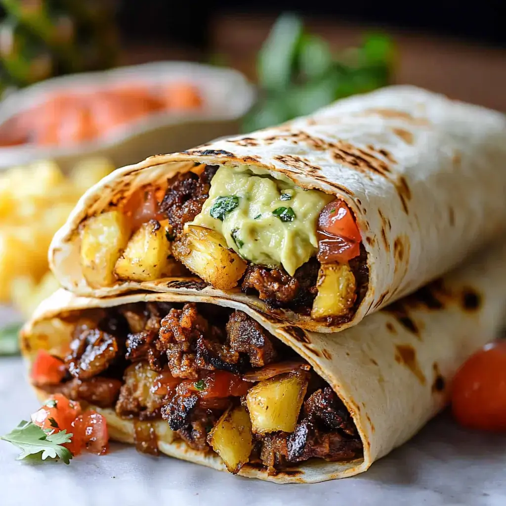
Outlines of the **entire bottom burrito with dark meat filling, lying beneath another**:
M 22 349 L 41 400 L 91 406 L 141 451 L 278 483 L 343 478 L 412 437 L 495 338 L 505 255 L 491 249 L 331 335 L 201 293 L 60 289 Z

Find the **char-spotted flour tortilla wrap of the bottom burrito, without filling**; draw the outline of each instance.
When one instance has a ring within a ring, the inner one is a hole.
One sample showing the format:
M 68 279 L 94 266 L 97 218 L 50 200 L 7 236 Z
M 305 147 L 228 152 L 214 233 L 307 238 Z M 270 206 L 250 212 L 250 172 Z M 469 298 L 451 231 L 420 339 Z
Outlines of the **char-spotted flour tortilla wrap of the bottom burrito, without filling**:
M 28 362 L 38 349 L 54 350 L 70 330 L 57 317 L 86 308 L 136 301 L 206 302 L 240 309 L 307 360 L 343 400 L 353 416 L 364 457 L 349 462 L 313 459 L 277 476 L 244 466 L 240 475 L 277 483 L 314 483 L 353 476 L 411 438 L 442 409 L 457 368 L 501 330 L 506 314 L 506 243 L 442 280 L 369 316 L 339 334 L 290 326 L 246 304 L 199 293 L 139 292 L 87 299 L 60 289 L 42 303 L 22 331 Z M 39 392 L 43 400 L 44 392 Z M 101 410 L 114 439 L 133 442 L 133 422 Z M 214 454 L 190 449 L 163 421 L 157 423 L 159 449 L 177 458 L 225 470 Z

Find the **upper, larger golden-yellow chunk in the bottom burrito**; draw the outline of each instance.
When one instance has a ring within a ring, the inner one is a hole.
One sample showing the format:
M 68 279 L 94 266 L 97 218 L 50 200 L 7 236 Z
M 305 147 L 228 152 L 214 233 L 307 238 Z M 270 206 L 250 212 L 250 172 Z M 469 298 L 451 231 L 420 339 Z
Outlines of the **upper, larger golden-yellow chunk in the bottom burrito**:
M 246 405 L 253 432 L 293 432 L 307 388 L 307 374 L 302 371 L 266 379 L 252 387 Z

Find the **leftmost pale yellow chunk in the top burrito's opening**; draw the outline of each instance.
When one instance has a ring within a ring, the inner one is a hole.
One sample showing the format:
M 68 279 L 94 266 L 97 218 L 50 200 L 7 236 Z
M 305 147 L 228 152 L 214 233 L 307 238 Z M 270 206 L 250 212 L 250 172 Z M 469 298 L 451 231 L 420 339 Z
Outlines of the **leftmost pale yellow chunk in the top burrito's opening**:
M 118 211 L 89 218 L 81 228 L 81 268 L 92 288 L 116 281 L 114 265 L 128 243 L 130 229 Z

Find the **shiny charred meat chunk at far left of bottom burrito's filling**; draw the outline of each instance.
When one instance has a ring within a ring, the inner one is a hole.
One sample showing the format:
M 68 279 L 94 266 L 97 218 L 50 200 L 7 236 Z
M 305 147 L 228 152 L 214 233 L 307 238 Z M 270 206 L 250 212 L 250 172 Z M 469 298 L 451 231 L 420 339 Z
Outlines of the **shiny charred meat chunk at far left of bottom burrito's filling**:
M 118 356 L 119 346 L 116 338 L 107 332 L 78 326 L 70 350 L 65 358 L 69 373 L 87 379 L 107 369 Z

